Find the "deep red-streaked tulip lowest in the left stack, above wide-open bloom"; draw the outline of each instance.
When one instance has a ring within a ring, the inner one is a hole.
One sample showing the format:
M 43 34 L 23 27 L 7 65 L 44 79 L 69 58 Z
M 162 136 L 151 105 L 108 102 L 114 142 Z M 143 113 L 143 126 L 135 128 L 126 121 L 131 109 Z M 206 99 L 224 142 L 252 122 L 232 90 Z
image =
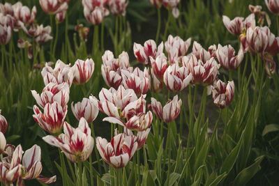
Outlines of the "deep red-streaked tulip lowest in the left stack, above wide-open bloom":
M 67 105 L 62 108 L 58 102 L 53 102 L 52 104 L 45 104 L 44 113 L 34 105 L 33 107 L 33 118 L 36 123 L 43 128 L 43 130 L 56 134 L 62 128 L 63 121 L 66 118 L 67 114 Z

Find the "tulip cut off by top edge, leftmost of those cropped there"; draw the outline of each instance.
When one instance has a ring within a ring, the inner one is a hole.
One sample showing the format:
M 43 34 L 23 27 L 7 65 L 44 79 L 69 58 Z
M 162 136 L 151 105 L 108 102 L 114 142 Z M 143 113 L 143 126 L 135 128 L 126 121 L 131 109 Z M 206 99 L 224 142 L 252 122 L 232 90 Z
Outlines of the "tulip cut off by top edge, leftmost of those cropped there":
M 40 0 L 40 7 L 45 13 L 54 15 L 56 13 L 61 13 L 68 9 L 68 3 L 59 2 L 59 0 Z

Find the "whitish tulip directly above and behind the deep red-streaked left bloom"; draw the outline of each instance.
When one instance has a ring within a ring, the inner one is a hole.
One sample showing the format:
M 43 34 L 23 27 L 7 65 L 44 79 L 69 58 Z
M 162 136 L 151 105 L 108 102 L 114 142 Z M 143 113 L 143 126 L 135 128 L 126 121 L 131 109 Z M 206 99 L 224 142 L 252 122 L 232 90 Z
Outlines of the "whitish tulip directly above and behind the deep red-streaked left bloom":
M 43 88 L 43 92 L 40 95 L 34 90 L 31 93 L 42 109 L 45 104 L 53 102 L 58 102 L 64 108 L 69 101 L 70 88 L 66 83 L 57 85 L 50 82 Z

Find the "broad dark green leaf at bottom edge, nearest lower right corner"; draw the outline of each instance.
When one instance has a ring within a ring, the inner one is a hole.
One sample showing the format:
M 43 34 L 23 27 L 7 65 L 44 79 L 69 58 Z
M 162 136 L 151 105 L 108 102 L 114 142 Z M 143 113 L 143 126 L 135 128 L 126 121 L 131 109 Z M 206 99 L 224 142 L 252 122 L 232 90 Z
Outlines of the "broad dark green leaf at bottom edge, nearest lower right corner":
M 248 183 L 248 181 L 255 176 L 257 171 L 261 169 L 259 164 L 262 160 L 264 160 L 264 155 L 257 157 L 254 164 L 248 166 L 246 169 L 243 169 L 234 179 L 233 185 L 246 185 L 246 183 Z

